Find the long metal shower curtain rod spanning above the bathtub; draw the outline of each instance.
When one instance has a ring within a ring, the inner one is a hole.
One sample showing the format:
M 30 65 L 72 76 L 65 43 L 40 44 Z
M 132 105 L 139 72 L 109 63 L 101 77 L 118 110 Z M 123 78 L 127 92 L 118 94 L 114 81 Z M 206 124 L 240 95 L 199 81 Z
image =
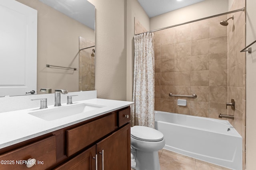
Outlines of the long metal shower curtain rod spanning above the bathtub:
M 239 12 L 239 11 L 244 11 L 245 8 L 241 8 L 241 9 L 238 9 L 238 10 L 233 10 L 233 11 L 229 11 L 229 12 L 224 12 L 224 13 L 221 13 L 221 14 L 216 14 L 216 15 L 213 15 L 213 16 L 209 16 L 209 17 L 205 17 L 205 18 L 201 18 L 201 19 L 197 19 L 197 20 L 192 20 L 192 21 L 188 21 L 188 22 L 184 22 L 184 23 L 180 23 L 180 24 L 176 24 L 176 25 L 172 25 L 172 26 L 169 26 L 169 27 L 164 27 L 164 28 L 160 28 L 160 29 L 155 29 L 155 30 L 152 30 L 152 31 L 147 31 L 147 32 L 144 32 L 144 33 L 152 33 L 152 32 L 155 32 L 155 31 L 160 31 L 160 30 L 163 30 L 163 29 L 168 29 L 168 28 L 172 28 L 172 27 L 177 27 L 177 26 L 180 26 L 180 25 L 185 25 L 185 24 L 188 24 L 188 23 L 192 23 L 192 22 L 196 22 L 196 21 L 201 21 L 201 20 L 206 20 L 206 19 L 209 19 L 209 18 L 214 18 L 214 17 L 218 17 L 218 16 L 223 16 L 223 15 L 226 15 L 226 14 L 231 14 L 231 13 L 234 13 L 234 12 Z M 136 35 L 140 35 L 142 33 L 139 33 L 139 34 L 136 34 Z

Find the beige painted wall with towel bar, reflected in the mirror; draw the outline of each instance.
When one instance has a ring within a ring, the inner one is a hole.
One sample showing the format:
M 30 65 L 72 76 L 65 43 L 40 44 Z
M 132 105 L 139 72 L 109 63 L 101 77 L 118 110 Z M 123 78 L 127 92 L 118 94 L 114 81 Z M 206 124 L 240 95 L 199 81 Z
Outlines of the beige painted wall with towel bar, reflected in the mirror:
M 79 36 L 94 42 L 94 30 L 38 0 L 17 1 L 38 11 L 38 94 L 40 88 L 78 91 L 78 71 L 47 68 L 46 64 L 79 68 Z

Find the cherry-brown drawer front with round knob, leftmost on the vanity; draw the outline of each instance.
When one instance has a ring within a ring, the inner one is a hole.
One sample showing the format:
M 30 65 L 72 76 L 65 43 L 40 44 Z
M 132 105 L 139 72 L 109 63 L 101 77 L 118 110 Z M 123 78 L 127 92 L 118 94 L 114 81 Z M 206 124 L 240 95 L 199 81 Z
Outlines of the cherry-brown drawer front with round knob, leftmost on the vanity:
M 29 158 L 36 159 L 31 170 L 46 169 L 56 163 L 55 136 L 34 142 L 30 145 L 0 155 L 1 170 L 25 170 Z M 2 164 L 4 163 L 4 164 Z M 6 164 L 5 164 L 6 163 Z

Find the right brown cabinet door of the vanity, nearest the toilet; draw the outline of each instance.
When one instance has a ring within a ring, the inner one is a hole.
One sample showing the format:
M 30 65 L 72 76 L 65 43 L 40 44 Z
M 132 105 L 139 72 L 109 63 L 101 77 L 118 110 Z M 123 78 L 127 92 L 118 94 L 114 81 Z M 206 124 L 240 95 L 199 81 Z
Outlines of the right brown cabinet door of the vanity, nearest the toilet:
M 130 170 L 130 123 L 97 143 L 98 170 Z

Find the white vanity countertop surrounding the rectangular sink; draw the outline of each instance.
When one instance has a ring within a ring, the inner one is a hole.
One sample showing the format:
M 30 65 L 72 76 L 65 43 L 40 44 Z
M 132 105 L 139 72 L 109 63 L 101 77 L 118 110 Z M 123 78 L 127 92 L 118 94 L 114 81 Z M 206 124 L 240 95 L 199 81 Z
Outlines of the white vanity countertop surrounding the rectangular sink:
M 72 106 L 81 103 L 104 107 L 52 121 L 46 121 L 29 114 L 33 111 L 43 110 L 39 107 L 0 113 L 0 149 L 133 104 L 133 102 L 95 98 L 73 102 Z M 62 104 L 59 107 L 67 107 L 67 104 Z M 51 105 L 47 109 L 52 108 L 56 107 Z

